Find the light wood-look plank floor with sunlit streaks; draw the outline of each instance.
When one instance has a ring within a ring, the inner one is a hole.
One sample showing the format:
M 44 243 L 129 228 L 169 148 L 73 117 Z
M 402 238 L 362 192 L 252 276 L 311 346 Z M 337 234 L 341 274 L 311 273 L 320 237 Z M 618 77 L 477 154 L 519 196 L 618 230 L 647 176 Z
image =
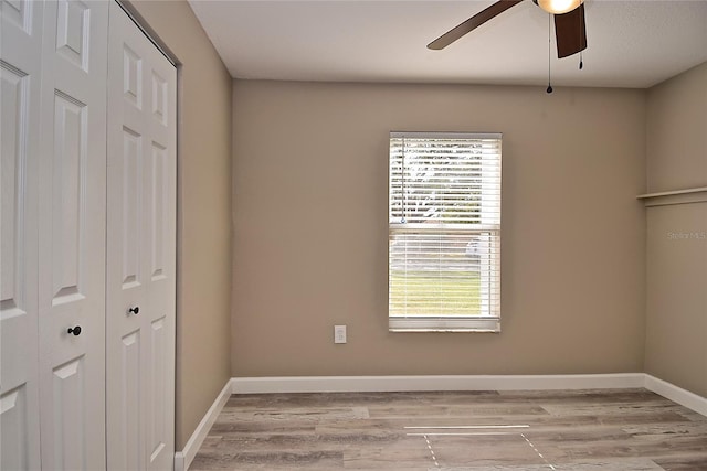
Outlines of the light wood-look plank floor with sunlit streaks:
M 645 389 L 231 396 L 190 470 L 707 470 L 707 417 Z

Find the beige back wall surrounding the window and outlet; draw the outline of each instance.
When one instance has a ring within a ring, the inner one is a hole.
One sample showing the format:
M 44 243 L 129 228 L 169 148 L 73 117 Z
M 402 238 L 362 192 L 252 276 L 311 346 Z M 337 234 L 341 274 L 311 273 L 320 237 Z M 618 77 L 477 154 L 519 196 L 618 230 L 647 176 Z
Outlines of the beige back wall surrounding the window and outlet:
M 233 100 L 234 376 L 643 371 L 644 92 L 235 81 Z M 391 130 L 504 133 L 500 334 L 388 332 Z

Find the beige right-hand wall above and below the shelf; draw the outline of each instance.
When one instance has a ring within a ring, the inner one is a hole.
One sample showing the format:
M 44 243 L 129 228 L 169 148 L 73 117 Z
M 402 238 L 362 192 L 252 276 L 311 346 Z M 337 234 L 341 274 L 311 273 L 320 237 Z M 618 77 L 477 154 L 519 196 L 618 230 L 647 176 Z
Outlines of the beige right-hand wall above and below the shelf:
M 648 191 L 707 186 L 707 63 L 652 88 L 646 122 Z M 707 202 L 646 214 L 646 372 L 707 397 Z

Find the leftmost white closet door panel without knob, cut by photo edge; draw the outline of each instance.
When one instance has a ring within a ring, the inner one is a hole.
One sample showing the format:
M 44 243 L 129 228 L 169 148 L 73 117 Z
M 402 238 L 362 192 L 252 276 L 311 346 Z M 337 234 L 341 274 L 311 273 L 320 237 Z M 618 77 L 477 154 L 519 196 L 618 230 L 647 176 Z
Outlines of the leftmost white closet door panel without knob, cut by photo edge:
M 33 470 L 40 467 L 36 172 L 42 4 L 3 0 L 0 17 L 0 469 Z

